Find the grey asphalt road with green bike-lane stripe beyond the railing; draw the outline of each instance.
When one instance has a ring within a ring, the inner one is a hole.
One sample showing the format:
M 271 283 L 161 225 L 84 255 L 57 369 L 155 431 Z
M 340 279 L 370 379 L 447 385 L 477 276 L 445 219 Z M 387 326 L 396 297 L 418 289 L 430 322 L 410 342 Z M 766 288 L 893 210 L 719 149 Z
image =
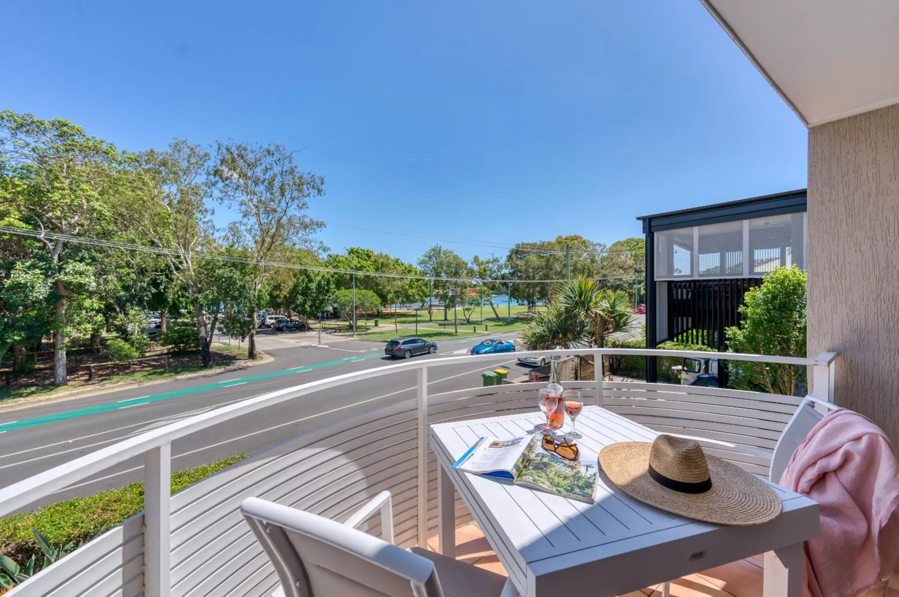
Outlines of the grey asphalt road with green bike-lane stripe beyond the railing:
M 510 340 L 514 336 L 514 333 L 508 333 L 493 337 Z M 414 359 L 464 353 L 477 342 L 476 338 L 441 342 L 436 355 L 422 355 Z M 383 343 L 359 340 L 334 342 L 327 348 L 297 346 L 276 349 L 268 351 L 274 357 L 273 362 L 247 370 L 0 413 L 0 486 L 31 477 L 115 441 L 218 406 L 315 379 L 396 362 L 386 357 L 383 350 Z M 479 365 L 474 362 L 446 365 L 429 371 L 429 391 L 436 394 L 479 387 L 481 372 L 498 367 L 501 363 L 510 368 L 510 377 L 528 370 L 515 361 L 513 353 L 508 359 L 489 365 L 483 362 Z M 354 382 L 265 408 L 174 441 L 172 468 L 181 470 L 234 454 L 263 450 L 338 418 L 413 398 L 415 384 L 414 371 L 406 371 Z M 29 509 L 140 480 L 142 467 L 142 459 L 131 459 L 32 503 Z

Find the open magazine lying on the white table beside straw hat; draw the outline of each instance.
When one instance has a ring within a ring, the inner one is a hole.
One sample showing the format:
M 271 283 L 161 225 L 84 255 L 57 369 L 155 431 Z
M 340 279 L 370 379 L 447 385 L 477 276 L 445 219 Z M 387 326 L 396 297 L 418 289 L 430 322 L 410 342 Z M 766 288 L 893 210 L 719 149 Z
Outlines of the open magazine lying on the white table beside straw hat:
M 545 450 L 542 438 L 540 433 L 511 440 L 482 437 L 452 468 L 485 477 L 512 479 L 516 485 L 592 503 L 599 464 L 597 454 L 579 448 L 576 460 L 563 459 Z

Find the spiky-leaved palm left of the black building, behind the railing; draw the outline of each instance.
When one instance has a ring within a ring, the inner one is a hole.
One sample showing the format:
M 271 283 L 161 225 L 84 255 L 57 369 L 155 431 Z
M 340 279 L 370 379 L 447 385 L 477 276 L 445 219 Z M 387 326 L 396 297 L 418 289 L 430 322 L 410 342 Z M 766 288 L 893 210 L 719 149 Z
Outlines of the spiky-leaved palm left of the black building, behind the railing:
M 556 287 L 556 304 L 592 322 L 593 343 L 602 348 L 606 336 L 627 330 L 634 316 L 630 298 L 622 290 L 601 290 L 592 280 L 565 281 Z

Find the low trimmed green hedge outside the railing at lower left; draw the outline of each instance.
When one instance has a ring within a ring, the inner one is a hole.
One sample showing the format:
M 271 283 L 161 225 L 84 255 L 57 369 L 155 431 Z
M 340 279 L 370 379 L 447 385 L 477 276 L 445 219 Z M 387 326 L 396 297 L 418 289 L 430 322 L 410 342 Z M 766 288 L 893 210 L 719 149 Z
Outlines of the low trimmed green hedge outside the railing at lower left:
M 200 467 L 172 473 L 172 493 L 209 477 L 247 457 L 238 454 Z M 22 566 L 32 555 L 41 559 L 40 548 L 31 529 L 40 530 L 54 546 L 85 543 L 118 526 L 144 509 L 144 484 L 132 483 L 67 502 L 52 503 L 27 514 L 13 514 L 0 520 L 0 553 Z

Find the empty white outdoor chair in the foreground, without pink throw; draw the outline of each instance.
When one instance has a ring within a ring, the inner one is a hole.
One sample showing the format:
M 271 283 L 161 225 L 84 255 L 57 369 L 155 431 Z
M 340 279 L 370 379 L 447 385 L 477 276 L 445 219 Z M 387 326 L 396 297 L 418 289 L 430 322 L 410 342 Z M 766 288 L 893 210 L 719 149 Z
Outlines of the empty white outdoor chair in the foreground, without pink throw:
M 515 597 L 501 575 L 427 549 L 407 551 L 357 530 L 381 510 L 393 538 L 390 493 L 341 524 L 279 503 L 247 498 L 240 510 L 278 573 L 287 597 Z M 279 594 L 279 593 L 276 593 Z

